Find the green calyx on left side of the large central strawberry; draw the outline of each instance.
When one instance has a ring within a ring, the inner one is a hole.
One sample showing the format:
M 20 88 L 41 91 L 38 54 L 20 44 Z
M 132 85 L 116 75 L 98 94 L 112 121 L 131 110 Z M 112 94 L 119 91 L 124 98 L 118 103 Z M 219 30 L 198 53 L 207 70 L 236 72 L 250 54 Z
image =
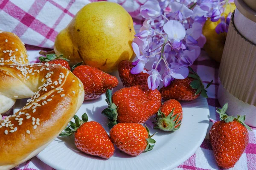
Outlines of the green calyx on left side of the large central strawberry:
M 108 123 L 108 128 L 111 129 L 114 125 L 117 124 L 117 107 L 115 103 L 112 102 L 112 91 L 107 89 L 106 91 L 106 102 L 108 103 L 108 108 L 105 108 L 102 111 L 102 114 L 110 119 Z

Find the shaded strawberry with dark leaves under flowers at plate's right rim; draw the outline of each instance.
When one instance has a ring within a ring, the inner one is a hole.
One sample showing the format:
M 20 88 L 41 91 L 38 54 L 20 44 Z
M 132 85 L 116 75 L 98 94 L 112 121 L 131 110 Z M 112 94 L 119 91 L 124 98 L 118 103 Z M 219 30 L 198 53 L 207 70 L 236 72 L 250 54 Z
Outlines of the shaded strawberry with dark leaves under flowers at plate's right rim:
M 212 81 L 204 88 L 204 85 L 195 71 L 189 67 L 189 75 L 185 79 L 175 79 L 167 87 L 159 91 L 164 100 L 176 99 L 180 101 L 191 101 L 200 96 L 208 98 L 206 89 L 212 84 Z

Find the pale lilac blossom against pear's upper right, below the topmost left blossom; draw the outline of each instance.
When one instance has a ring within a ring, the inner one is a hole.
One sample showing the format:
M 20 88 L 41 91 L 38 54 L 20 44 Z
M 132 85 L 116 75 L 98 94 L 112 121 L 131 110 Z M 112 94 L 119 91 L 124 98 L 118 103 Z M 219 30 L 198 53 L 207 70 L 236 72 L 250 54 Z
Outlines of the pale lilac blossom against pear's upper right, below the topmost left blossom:
M 151 18 L 146 19 L 143 22 L 143 26 L 140 28 L 140 32 L 135 34 L 134 37 L 140 38 L 140 40 L 147 40 L 154 35 L 154 29 L 150 26 Z

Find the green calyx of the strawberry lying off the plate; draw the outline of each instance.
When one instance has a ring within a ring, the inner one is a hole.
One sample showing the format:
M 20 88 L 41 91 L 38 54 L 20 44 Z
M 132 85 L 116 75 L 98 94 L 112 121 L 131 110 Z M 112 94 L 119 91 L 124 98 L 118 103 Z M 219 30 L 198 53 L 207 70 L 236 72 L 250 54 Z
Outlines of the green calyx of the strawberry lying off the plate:
M 244 125 L 244 127 L 246 127 L 248 130 L 252 131 L 252 129 L 250 128 L 250 126 L 246 125 L 244 123 L 245 121 L 245 115 L 244 116 L 240 116 L 237 115 L 237 118 L 234 116 L 228 116 L 226 114 L 227 111 L 227 103 L 220 109 L 220 108 L 216 108 L 216 112 L 220 114 L 220 118 L 221 120 L 224 120 L 226 123 L 228 122 L 233 122 L 234 120 L 236 120 L 237 122 L 241 123 L 242 125 Z

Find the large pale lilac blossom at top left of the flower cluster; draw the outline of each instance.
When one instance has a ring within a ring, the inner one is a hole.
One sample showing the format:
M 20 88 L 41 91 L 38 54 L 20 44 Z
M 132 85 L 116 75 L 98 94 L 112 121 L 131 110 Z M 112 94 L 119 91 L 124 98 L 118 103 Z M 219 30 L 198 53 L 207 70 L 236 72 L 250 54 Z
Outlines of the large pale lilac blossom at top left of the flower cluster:
M 140 7 L 140 14 L 144 18 L 154 18 L 160 16 L 160 5 L 157 0 L 147 0 L 143 6 Z

